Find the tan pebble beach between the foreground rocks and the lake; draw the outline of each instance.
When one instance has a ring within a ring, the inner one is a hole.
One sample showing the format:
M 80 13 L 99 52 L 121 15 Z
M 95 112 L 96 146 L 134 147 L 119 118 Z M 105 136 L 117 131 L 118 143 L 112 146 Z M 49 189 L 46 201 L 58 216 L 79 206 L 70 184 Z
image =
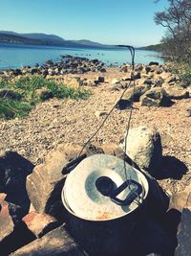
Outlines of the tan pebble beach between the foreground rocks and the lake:
M 128 67 L 127 65 L 127 69 Z M 140 68 L 137 65 L 138 67 Z M 160 66 L 154 67 L 157 70 Z M 122 71 L 124 69 L 125 66 L 107 67 L 106 72 L 48 75 L 48 80 L 57 79 L 59 82 L 68 79 L 71 81 L 70 86 L 90 88 L 92 95 L 88 100 L 80 101 L 53 98 L 35 105 L 29 116 L 24 119 L 0 120 L 2 138 L 0 150 L 17 151 L 36 165 L 43 162 L 49 151 L 56 149 L 62 143 L 83 144 L 104 119 L 104 114 L 97 116 L 97 113 L 107 113 L 117 103 L 125 84 L 129 82 L 129 73 Z M 162 74 L 166 77 L 170 76 L 167 72 L 161 73 L 160 76 Z M 156 74 L 156 71 L 153 73 L 149 71 L 144 79 L 140 78 L 136 83 L 138 84 L 141 80 L 152 81 L 153 79 L 149 79 L 149 76 L 157 78 L 159 74 Z M 170 81 L 170 77 L 168 80 Z M 83 84 L 80 85 L 79 81 L 83 81 Z M 174 87 L 172 82 L 176 84 L 178 81 L 171 81 L 169 85 L 171 88 Z M 159 181 L 162 188 L 171 194 L 181 191 L 190 182 L 191 172 L 189 146 L 191 141 L 188 132 L 190 117 L 185 116 L 186 109 L 190 107 L 190 98 L 174 99 L 173 102 L 174 105 L 169 107 L 142 106 L 140 102 L 136 102 L 131 123 L 131 128 L 145 124 L 157 128 L 161 135 L 163 155 L 175 157 L 187 167 L 187 174 L 180 180 L 167 177 Z M 93 142 L 118 145 L 124 136 L 128 116 L 128 108 L 124 110 L 116 108 Z

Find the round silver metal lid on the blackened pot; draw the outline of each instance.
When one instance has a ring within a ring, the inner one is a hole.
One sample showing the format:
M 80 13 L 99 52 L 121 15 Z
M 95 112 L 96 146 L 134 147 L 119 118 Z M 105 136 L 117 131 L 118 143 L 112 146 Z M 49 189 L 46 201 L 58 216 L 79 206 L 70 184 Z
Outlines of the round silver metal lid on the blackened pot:
M 142 188 L 139 195 L 134 193 L 132 201 L 125 199 L 136 185 L 125 182 L 126 179 Z M 62 200 L 74 215 L 86 220 L 103 221 L 131 213 L 147 193 L 148 182 L 138 170 L 126 163 L 125 175 L 123 160 L 112 155 L 95 154 L 84 159 L 67 176 Z

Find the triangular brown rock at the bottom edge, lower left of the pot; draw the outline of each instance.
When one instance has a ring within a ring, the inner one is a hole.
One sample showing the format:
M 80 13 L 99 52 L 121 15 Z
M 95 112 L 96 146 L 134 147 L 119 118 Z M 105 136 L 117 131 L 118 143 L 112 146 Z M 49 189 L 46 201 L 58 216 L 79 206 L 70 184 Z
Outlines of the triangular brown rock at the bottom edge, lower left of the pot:
M 84 256 L 85 252 L 74 243 L 74 240 L 69 236 L 64 225 L 62 225 L 11 254 L 11 256 L 27 255 Z

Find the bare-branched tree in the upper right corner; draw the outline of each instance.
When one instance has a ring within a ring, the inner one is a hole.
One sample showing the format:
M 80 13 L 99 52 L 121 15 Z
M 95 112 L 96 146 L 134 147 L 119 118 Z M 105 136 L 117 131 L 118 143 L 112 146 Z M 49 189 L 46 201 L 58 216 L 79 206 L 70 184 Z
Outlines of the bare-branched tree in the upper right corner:
M 174 60 L 191 61 L 191 0 L 168 0 L 169 7 L 155 14 L 155 22 L 167 29 L 161 42 Z

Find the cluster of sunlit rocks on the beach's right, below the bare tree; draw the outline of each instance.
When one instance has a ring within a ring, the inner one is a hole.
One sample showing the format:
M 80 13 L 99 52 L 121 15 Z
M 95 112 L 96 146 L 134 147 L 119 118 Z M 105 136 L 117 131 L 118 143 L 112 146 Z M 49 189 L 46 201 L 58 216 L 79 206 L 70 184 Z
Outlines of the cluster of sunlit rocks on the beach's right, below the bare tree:
M 159 65 L 158 62 L 151 62 L 149 65 L 137 64 L 131 76 L 131 65 L 123 64 L 121 72 L 127 75 L 117 82 L 117 86 L 129 86 L 122 99 L 118 102 L 117 108 L 129 107 L 130 102 L 140 102 L 146 106 L 170 106 L 173 100 L 181 100 L 190 97 L 191 84 L 180 81 L 180 78 L 168 71 L 167 65 Z M 129 85 L 131 78 L 135 81 Z

